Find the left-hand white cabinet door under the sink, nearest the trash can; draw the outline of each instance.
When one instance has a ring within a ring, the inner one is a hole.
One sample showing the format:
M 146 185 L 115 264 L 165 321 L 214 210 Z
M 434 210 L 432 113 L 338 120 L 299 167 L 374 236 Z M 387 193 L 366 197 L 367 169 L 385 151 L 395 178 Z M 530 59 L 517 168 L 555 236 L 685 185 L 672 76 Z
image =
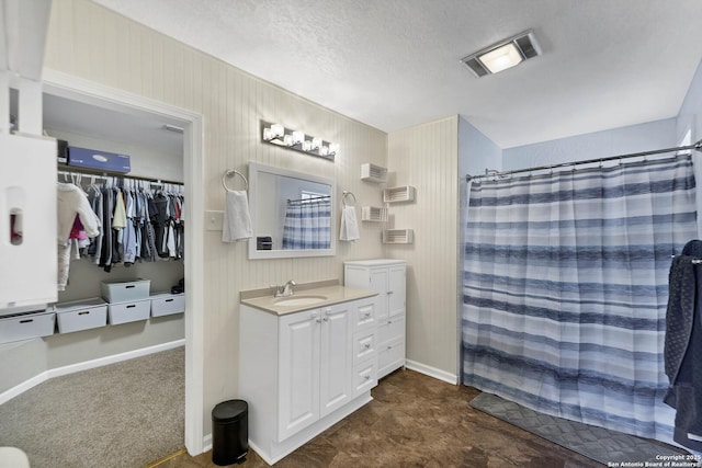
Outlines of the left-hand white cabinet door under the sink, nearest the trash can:
M 279 441 L 319 419 L 321 323 L 318 309 L 280 319 Z

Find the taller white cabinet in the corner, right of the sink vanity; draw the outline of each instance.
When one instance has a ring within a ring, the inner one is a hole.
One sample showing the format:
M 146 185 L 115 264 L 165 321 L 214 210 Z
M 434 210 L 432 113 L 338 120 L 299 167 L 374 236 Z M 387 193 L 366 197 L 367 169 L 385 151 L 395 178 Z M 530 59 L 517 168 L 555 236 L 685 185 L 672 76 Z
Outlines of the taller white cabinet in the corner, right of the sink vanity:
M 404 260 L 359 260 L 344 262 L 346 286 L 378 293 L 375 296 L 377 320 L 377 377 L 405 366 L 406 262 Z

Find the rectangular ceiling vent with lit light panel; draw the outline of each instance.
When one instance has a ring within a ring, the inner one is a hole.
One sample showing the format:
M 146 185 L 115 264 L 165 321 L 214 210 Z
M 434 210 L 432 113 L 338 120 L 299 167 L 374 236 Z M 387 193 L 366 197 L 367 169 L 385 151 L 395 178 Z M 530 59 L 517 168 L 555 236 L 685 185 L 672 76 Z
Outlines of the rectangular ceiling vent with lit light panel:
M 512 36 L 461 59 L 476 76 L 497 73 L 541 55 L 533 31 Z

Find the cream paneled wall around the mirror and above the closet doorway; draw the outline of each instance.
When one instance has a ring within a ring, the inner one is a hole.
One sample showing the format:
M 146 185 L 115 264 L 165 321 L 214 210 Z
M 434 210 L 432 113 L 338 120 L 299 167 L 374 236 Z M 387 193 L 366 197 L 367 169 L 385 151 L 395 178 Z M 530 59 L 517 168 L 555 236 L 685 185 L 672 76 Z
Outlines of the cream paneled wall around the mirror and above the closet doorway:
M 249 161 L 335 179 L 337 195 L 353 192 L 358 206 L 375 203 L 380 196 L 378 186 L 359 179 L 360 165 L 386 164 L 386 134 L 90 1 L 54 2 L 45 66 L 202 114 L 204 152 L 197 157 L 204 159 L 205 209 L 224 208 L 222 174 L 227 169 L 246 173 Z M 339 142 L 336 162 L 262 144 L 260 119 Z M 202 229 L 205 237 L 205 303 L 202 310 L 186 313 L 204 316 L 203 424 L 208 434 L 211 409 L 236 397 L 239 292 L 290 278 L 298 283 L 341 279 L 344 260 L 381 256 L 383 249 L 380 227 L 363 224 L 361 240 L 339 242 L 336 256 L 249 261 L 246 242 L 222 243 L 220 231 L 204 231 L 200 219 L 189 221 L 188 229 Z

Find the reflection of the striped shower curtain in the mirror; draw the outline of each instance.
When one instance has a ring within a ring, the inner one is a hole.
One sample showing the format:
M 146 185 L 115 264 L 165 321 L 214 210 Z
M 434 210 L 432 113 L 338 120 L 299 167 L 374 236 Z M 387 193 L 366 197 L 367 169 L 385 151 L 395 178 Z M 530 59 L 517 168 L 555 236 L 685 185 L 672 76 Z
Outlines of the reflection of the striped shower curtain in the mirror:
M 283 227 L 283 249 L 329 249 L 331 201 L 288 201 Z

